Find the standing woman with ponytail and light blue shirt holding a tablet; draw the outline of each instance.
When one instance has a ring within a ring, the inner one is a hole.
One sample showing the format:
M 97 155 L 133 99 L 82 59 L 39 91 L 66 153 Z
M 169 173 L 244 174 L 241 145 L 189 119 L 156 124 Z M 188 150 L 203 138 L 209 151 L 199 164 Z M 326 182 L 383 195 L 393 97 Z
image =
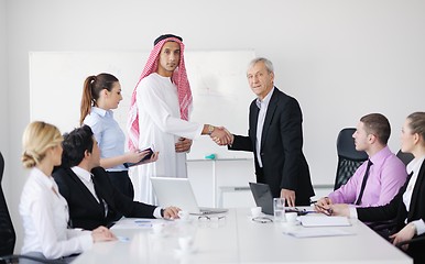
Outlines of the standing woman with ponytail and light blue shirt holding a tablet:
M 80 124 L 90 127 L 100 147 L 100 166 L 103 167 L 112 184 L 123 195 L 134 198 L 127 163 L 139 163 L 148 151 L 124 152 L 126 135 L 113 119 L 112 109 L 122 100 L 121 85 L 111 74 L 99 74 L 86 78 L 83 87 Z M 157 160 L 154 153 L 146 162 Z

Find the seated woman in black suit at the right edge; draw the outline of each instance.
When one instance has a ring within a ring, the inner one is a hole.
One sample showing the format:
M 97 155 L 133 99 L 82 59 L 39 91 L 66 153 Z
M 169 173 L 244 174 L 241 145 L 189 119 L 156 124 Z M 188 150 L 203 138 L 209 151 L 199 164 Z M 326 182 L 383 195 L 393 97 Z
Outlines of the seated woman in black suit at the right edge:
M 363 222 L 384 221 L 395 218 L 396 231 L 390 235 L 393 244 L 425 237 L 425 112 L 410 114 L 402 129 L 402 152 L 412 153 L 407 165 L 408 177 L 390 204 L 381 207 L 349 208 L 330 206 L 334 215 L 358 218 Z M 425 241 L 402 246 L 415 263 L 425 263 Z

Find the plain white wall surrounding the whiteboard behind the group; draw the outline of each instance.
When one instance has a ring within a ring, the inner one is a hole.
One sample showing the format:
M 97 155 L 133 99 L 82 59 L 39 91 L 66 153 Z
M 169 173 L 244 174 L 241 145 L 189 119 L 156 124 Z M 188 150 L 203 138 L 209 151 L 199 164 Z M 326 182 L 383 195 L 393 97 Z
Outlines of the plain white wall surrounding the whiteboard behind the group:
M 30 120 L 31 51 L 150 51 L 152 41 L 168 32 L 182 35 L 187 50 L 254 50 L 274 62 L 276 86 L 299 100 L 304 150 L 315 184 L 333 183 L 335 139 L 342 127 L 356 125 L 366 113 L 382 112 L 392 123 L 390 145 L 396 151 L 405 116 L 424 110 L 422 0 L 6 3 L 7 15 L 2 15 L 4 2 L 0 4 L 0 56 L 8 56 L 7 69 L 0 63 L 0 76 L 6 75 L 8 81 L 1 81 L 0 103 L 2 108 L 10 103 L 9 114 L 0 117 L 9 132 L 0 131 L 0 138 L 7 139 L 0 143 L 9 145 L 8 198 L 15 223 L 20 222 L 18 202 L 26 175 L 20 164 L 20 142 Z M 7 18 L 6 37 L 2 18 Z

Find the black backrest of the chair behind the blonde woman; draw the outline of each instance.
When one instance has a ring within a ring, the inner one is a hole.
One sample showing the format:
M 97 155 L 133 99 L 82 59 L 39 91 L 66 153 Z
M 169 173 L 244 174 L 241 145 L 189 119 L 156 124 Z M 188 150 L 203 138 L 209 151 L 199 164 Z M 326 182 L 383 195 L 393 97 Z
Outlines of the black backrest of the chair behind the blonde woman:
M 14 243 L 17 240 L 17 234 L 14 233 L 8 206 L 6 205 L 3 188 L 1 186 L 3 172 L 4 158 L 0 152 L 0 256 L 13 254 Z

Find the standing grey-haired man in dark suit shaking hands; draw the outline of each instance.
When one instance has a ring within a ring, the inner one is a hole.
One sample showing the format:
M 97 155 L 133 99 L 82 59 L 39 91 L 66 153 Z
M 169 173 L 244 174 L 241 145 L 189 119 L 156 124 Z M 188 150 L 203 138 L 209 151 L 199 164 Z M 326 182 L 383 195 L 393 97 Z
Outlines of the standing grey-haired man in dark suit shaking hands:
M 274 87 L 269 59 L 253 59 L 247 77 L 258 99 L 250 106 L 248 136 L 231 135 L 228 148 L 254 153 L 257 182 L 268 184 L 273 197 L 285 198 L 291 207 L 308 206 L 314 190 L 302 151 L 299 105 Z

